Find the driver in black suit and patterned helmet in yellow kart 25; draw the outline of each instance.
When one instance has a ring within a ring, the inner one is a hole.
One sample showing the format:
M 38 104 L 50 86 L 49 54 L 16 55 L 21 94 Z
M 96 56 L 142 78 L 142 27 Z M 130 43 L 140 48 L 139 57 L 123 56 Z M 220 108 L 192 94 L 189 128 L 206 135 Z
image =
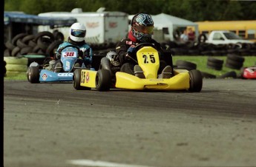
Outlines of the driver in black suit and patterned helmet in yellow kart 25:
M 151 38 L 151 35 L 153 34 L 154 29 L 154 21 L 151 18 L 150 15 L 147 13 L 138 13 L 131 19 L 131 30 L 128 33 L 128 38 L 122 39 L 122 41 L 119 41 L 116 44 L 116 54 L 114 55 L 114 61 L 119 58 L 120 64 L 119 64 L 119 70 L 121 72 L 126 72 L 131 75 L 136 75 L 139 78 L 145 78 L 145 76 L 142 73 L 142 69 L 140 68 L 137 63 L 132 60 L 128 55 L 132 55 L 132 58 L 136 58 L 135 54 L 135 46 L 137 44 L 141 43 L 151 43 L 154 44 L 154 46 L 157 48 L 157 51 L 161 55 L 163 54 L 163 50 L 160 46 L 160 43 L 155 41 Z M 110 52 L 109 52 L 110 53 Z M 113 54 L 113 51 L 111 51 L 111 54 Z M 111 65 L 108 61 L 108 54 L 107 58 L 102 58 L 101 60 L 101 66 L 102 69 L 109 69 Z M 111 66 L 112 68 L 113 66 Z M 165 67 L 163 69 L 163 67 Z M 116 72 L 116 70 L 111 69 L 111 71 Z M 160 69 L 159 72 L 162 72 L 160 75 L 160 78 L 171 78 L 171 66 L 167 66 L 165 61 L 160 60 Z M 113 73 L 114 73 L 113 72 Z M 164 75 L 163 75 L 164 74 Z

